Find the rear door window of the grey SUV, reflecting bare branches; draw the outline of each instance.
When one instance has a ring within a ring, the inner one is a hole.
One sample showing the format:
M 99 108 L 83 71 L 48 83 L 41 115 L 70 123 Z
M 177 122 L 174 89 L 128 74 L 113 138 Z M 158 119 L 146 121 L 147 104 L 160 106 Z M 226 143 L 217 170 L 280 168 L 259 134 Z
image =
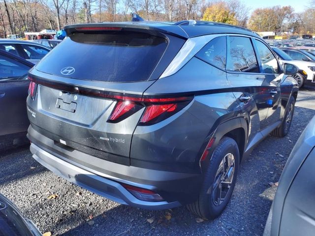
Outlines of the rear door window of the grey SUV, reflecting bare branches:
M 249 73 L 259 73 L 257 59 L 250 38 L 229 36 L 230 51 L 228 56 L 231 62 L 227 70 Z

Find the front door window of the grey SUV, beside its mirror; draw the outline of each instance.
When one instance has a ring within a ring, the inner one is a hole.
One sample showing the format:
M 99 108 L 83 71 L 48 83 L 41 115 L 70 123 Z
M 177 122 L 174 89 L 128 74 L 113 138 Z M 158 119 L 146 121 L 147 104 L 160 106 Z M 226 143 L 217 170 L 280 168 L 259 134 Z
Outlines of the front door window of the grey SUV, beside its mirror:
M 272 52 L 259 40 L 256 40 L 256 46 L 262 65 L 262 72 L 266 74 L 278 74 L 278 61 Z

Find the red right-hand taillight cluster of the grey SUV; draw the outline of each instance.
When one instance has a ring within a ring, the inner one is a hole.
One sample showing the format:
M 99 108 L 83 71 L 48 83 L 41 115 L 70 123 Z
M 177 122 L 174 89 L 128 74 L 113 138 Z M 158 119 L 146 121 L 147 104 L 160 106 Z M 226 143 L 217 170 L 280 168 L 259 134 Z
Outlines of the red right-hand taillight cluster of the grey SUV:
M 113 99 L 117 99 L 118 101 L 110 118 L 107 120 L 108 122 L 117 123 L 145 107 L 139 121 L 139 125 L 143 126 L 158 123 L 174 115 L 187 106 L 192 97 L 139 98 L 115 95 Z

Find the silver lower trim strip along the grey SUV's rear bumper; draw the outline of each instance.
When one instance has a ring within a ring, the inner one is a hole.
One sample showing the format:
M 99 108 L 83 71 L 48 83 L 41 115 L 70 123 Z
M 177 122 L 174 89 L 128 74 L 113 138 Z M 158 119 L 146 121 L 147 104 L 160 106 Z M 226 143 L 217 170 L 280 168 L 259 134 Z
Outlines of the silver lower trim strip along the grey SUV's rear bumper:
M 97 176 L 92 172 L 88 172 L 77 166 L 74 166 L 37 147 L 34 144 L 31 144 L 30 149 L 33 153 L 33 158 L 47 169 L 51 170 L 60 177 L 63 177 L 70 182 L 91 192 L 94 192 L 104 198 L 110 199 L 120 204 L 146 209 L 168 209 L 181 206 L 179 202 L 146 202 L 138 200 L 116 181 Z

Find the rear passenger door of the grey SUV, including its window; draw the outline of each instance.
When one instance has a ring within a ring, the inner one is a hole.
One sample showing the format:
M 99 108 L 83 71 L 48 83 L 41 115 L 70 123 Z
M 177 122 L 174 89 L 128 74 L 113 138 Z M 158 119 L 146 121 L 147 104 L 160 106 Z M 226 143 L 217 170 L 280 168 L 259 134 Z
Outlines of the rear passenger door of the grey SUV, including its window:
M 265 76 L 260 73 L 251 38 L 228 36 L 227 41 L 227 79 L 242 109 L 249 113 L 250 135 L 254 136 L 268 126 L 269 87 L 262 86 Z

